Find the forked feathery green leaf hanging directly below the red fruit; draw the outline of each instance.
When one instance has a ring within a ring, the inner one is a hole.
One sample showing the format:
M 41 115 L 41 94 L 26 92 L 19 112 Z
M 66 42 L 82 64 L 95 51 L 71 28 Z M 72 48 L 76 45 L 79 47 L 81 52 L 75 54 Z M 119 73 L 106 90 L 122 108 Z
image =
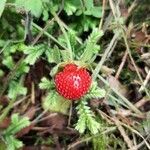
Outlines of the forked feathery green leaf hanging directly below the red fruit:
M 84 133 L 88 129 L 92 134 L 97 134 L 100 129 L 100 123 L 94 118 L 95 115 L 90 110 L 90 107 L 87 106 L 87 102 L 82 99 L 76 109 L 78 110 L 79 119 L 75 129 L 80 133 Z

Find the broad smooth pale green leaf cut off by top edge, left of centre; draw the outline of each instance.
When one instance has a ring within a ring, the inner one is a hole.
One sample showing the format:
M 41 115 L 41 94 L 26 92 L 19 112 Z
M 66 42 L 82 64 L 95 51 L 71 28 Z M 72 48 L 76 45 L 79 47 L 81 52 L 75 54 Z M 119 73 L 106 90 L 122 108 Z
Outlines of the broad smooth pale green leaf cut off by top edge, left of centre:
M 19 8 L 24 8 L 26 11 L 31 11 L 35 17 L 40 17 L 43 11 L 43 4 L 41 0 L 16 0 L 16 5 Z

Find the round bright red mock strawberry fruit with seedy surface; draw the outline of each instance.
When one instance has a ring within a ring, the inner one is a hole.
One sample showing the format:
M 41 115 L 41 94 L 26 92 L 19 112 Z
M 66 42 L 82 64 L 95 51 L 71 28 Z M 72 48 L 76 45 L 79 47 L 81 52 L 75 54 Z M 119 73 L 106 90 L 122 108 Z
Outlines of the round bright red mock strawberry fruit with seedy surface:
M 85 68 L 68 64 L 55 76 L 56 90 L 66 99 L 78 100 L 88 92 L 91 80 L 91 76 Z

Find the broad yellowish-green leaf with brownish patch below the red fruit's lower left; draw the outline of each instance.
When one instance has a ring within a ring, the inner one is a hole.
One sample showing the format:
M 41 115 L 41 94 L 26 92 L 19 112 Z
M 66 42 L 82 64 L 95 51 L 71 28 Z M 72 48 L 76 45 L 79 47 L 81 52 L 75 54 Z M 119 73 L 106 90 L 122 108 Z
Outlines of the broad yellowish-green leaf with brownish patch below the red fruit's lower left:
M 49 111 L 68 114 L 70 103 L 69 100 L 64 99 L 55 91 L 51 91 L 43 100 L 43 108 Z

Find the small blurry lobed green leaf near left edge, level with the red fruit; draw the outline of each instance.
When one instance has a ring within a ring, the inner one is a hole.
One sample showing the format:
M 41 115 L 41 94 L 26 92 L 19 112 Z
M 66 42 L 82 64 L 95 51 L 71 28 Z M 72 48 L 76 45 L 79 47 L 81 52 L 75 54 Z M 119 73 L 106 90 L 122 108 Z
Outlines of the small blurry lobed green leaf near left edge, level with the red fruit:
M 21 82 L 12 81 L 9 84 L 8 97 L 10 99 L 16 99 L 17 96 L 26 94 L 27 88 L 23 87 Z

